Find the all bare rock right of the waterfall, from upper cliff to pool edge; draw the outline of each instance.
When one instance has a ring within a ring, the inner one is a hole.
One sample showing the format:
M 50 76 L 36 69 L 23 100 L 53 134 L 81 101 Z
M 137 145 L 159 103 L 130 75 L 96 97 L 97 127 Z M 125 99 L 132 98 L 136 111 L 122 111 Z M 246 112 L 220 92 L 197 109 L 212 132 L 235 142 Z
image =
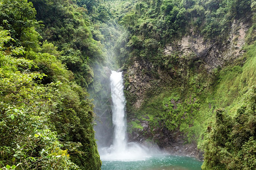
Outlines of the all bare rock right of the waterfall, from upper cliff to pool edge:
M 163 50 L 164 56 L 170 56 L 172 53 L 179 52 L 180 58 L 184 56 L 192 56 L 192 60 L 200 60 L 203 62 L 205 70 L 212 73 L 217 67 L 222 67 L 226 63 L 232 63 L 234 59 L 242 56 L 244 53 L 242 47 L 245 44 L 246 32 L 249 24 L 246 20 L 238 22 L 234 20 L 228 41 L 220 44 L 220 42 L 212 42 L 205 37 L 191 31 L 189 35 L 185 35 L 180 40 L 172 42 Z M 184 63 L 185 64 L 185 63 Z M 150 74 L 154 70 L 157 76 Z M 153 63 L 146 59 L 134 58 L 133 63 L 124 71 L 126 80 L 126 91 L 134 95 L 133 101 L 130 101 L 132 107 L 141 108 L 147 92 L 154 86 L 163 86 L 163 84 L 171 84 L 171 80 L 175 79 L 174 74 L 170 71 L 163 70 L 161 66 L 155 67 Z M 168 82 L 169 80 L 169 82 Z M 127 113 L 127 121 L 135 121 L 129 117 Z M 187 143 L 186 137 L 180 131 L 170 131 L 164 127 L 163 122 L 159 122 L 160 128 L 150 129 L 148 121 L 140 120 L 142 129 L 134 129 L 129 134 L 130 141 L 147 143 L 147 139 L 152 139 L 159 147 L 176 155 L 195 156 L 202 159 L 202 153 L 197 150 L 196 143 Z M 146 144 L 145 144 L 146 145 Z

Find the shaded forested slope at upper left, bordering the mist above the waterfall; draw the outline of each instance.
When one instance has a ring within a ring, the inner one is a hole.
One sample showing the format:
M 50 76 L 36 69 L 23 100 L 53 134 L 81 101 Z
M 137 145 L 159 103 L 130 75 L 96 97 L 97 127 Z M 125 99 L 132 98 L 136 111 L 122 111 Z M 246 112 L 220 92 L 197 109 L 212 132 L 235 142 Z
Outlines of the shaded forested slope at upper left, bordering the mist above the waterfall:
M 61 51 L 61 61 L 75 74 L 82 87 L 92 83 L 92 65 L 102 62 L 102 45 L 93 39 L 92 24 L 86 15 L 87 4 L 93 1 L 31 1 L 37 11 L 36 19 L 46 25 L 42 29 L 44 40 L 56 45 Z M 86 6 L 82 6 L 86 4 Z

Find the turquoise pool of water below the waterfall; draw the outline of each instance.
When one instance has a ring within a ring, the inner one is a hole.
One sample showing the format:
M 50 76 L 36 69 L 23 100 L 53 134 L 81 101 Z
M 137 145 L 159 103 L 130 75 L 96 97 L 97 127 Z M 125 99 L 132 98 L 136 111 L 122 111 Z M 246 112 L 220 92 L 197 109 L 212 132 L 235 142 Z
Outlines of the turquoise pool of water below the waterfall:
M 203 162 L 195 158 L 174 156 L 174 155 L 155 155 L 145 160 L 121 162 L 121 161 L 102 161 L 102 170 L 199 170 Z

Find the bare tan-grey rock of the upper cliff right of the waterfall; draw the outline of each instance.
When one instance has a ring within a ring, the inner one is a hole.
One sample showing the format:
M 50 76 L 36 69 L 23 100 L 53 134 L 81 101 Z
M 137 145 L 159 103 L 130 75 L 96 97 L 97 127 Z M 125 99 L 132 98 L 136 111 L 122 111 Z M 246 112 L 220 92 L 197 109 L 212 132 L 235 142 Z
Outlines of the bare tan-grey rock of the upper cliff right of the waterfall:
M 229 39 L 222 44 L 205 40 L 199 33 L 191 31 L 189 35 L 166 45 L 163 56 L 168 57 L 178 52 L 180 54 L 179 58 L 187 57 L 193 61 L 201 60 L 205 69 L 210 73 L 213 69 L 228 65 L 242 56 L 245 52 L 242 47 L 245 45 L 245 36 L 248 29 L 249 23 L 246 20 L 240 22 L 234 20 Z M 150 74 L 152 70 L 156 70 L 158 76 Z M 126 90 L 136 96 L 133 107 L 141 107 L 144 95 L 152 86 L 161 86 L 162 82 L 170 83 L 167 79 L 174 78 L 173 74 L 175 73 L 166 73 L 167 71 L 162 69 L 161 65 L 154 67 L 152 62 L 146 59 L 134 58 L 133 63 L 125 70 L 126 81 L 129 82 Z

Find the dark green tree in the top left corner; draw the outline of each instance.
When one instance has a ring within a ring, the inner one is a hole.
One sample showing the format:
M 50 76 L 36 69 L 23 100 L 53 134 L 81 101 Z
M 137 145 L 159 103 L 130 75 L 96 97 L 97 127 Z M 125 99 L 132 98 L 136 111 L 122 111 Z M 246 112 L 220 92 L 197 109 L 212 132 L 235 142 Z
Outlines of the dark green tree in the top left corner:
M 0 3 L 0 26 L 10 30 L 15 45 L 37 49 L 40 35 L 35 31 L 39 22 L 35 20 L 36 10 L 27 0 L 4 0 Z

